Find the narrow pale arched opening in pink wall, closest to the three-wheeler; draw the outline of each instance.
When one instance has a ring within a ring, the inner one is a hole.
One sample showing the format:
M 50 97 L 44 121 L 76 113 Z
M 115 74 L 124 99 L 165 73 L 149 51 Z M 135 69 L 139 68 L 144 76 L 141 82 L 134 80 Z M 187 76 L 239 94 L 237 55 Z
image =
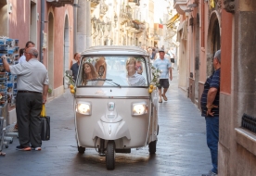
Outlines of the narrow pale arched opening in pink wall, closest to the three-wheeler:
M 63 86 L 68 88 L 68 85 L 65 83 L 66 70 L 70 69 L 69 57 L 70 57 L 70 31 L 69 31 L 69 19 L 66 15 L 65 25 L 64 25 L 64 58 L 63 58 Z

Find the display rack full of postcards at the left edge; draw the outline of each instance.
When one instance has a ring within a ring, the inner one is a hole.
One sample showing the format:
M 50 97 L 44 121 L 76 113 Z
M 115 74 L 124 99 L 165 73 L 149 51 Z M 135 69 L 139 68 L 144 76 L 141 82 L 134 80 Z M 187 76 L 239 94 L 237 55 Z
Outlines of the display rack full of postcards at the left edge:
M 10 39 L 7 37 L 0 37 L 0 57 L 6 55 L 6 60 L 9 65 L 15 65 L 19 63 L 19 40 Z M 16 95 L 17 95 L 17 76 L 12 75 L 10 72 L 6 72 L 4 69 L 3 61 L 0 59 L 0 156 L 5 156 L 2 152 L 2 148 L 5 145 L 8 147 L 8 143 L 11 144 L 13 138 L 8 135 L 16 134 L 13 132 L 8 120 L 8 107 L 15 107 Z

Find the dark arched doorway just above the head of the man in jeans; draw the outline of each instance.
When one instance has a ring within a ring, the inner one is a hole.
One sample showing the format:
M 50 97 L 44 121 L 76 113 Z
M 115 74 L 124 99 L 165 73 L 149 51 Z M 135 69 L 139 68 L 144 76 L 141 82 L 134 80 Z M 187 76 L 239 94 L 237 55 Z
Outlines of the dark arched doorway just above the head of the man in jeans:
M 221 48 L 220 18 L 217 11 L 211 13 L 208 30 L 208 51 L 207 51 L 207 76 L 213 72 L 212 58 L 217 50 Z

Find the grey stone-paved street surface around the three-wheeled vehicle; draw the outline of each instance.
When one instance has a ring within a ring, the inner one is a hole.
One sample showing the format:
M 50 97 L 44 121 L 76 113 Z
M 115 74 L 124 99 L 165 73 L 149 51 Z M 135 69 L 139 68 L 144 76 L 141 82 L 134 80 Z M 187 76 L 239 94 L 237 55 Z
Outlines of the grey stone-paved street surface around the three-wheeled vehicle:
M 211 169 L 206 145 L 205 122 L 197 107 L 177 88 L 177 73 L 160 105 L 160 134 L 155 156 L 147 146 L 131 154 L 117 154 L 116 169 L 106 170 L 105 157 L 95 149 L 77 152 L 74 138 L 72 96 L 69 91 L 47 103 L 51 117 L 51 140 L 43 142 L 42 151 L 16 151 L 18 139 L 9 145 L 6 157 L 0 157 L 0 175 L 6 176 L 77 176 L 77 175 L 147 175 L 200 176 Z

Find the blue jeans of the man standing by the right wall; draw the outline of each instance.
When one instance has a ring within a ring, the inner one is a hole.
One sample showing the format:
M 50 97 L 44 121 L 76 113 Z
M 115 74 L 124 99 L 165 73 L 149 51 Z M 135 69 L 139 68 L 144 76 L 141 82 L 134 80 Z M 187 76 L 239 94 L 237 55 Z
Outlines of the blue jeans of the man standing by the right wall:
M 218 173 L 219 117 L 205 118 L 207 145 L 211 151 L 212 172 Z

